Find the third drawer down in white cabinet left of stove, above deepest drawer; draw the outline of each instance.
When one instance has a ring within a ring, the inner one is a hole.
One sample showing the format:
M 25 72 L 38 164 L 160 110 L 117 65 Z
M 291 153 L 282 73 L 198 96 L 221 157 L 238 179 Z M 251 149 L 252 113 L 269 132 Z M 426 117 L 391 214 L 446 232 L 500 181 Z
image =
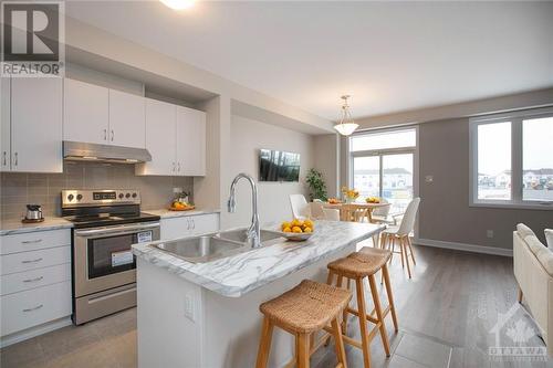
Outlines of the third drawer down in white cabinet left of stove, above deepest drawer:
M 71 263 L 0 276 L 0 295 L 71 281 Z

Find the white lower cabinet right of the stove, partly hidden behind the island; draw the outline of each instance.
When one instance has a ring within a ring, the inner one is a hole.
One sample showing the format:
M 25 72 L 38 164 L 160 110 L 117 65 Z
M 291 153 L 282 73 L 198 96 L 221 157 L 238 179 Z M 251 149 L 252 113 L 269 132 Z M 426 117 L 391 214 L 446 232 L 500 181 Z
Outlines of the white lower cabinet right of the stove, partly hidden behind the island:
M 219 213 L 163 218 L 161 240 L 198 235 L 219 230 Z

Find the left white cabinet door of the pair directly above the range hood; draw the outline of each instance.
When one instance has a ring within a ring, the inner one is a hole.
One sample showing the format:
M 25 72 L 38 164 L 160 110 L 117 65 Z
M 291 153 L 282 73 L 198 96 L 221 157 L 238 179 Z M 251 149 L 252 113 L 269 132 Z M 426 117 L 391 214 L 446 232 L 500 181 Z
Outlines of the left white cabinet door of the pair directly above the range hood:
M 109 90 L 75 80 L 64 83 L 63 139 L 106 145 Z

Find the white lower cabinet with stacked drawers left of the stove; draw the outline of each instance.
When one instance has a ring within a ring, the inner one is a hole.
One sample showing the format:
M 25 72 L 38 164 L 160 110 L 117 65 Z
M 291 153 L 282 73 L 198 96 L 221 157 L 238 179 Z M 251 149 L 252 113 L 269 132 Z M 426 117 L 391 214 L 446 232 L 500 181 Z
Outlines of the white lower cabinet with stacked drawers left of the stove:
M 2 345 L 71 316 L 71 230 L 4 235 L 0 244 Z

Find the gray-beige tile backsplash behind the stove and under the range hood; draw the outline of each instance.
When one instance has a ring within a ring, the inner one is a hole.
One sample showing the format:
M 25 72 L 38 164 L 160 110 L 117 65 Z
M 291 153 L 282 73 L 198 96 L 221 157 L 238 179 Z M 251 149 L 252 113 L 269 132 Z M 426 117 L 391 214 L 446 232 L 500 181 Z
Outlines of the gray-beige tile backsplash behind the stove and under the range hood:
M 45 217 L 60 215 L 62 189 L 137 189 L 143 210 L 161 209 L 176 187 L 192 192 L 192 178 L 139 177 L 134 165 L 65 161 L 62 174 L 2 172 L 0 214 L 2 220 L 20 219 L 25 204 L 36 203 Z

